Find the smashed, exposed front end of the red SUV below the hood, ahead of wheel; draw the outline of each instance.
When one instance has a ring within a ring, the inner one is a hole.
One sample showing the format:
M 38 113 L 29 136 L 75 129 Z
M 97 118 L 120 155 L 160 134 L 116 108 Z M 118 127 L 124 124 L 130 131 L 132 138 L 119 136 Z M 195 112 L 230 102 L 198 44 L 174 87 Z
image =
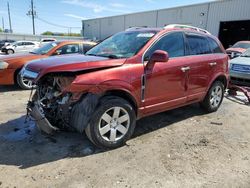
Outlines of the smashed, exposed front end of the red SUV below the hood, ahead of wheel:
M 74 79 L 75 76 L 46 76 L 37 83 L 27 111 L 42 132 L 53 134 L 59 130 L 85 130 L 98 96 L 66 91 Z

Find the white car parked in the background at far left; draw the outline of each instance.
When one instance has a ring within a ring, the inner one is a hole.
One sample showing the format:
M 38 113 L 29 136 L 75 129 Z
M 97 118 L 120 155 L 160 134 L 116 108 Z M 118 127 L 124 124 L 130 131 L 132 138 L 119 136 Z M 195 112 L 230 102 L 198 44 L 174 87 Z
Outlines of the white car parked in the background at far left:
M 1 51 L 6 54 L 24 53 L 39 48 L 39 43 L 34 41 L 17 41 L 2 47 Z

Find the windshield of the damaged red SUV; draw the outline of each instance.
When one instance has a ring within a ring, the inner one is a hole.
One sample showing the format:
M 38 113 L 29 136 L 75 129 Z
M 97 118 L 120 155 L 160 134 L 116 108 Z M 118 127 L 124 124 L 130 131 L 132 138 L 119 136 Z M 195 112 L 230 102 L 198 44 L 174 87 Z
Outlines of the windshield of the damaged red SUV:
M 155 31 L 117 33 L 90 49 L 86 55 L 129 58 L 135 55 L 155 34 Z

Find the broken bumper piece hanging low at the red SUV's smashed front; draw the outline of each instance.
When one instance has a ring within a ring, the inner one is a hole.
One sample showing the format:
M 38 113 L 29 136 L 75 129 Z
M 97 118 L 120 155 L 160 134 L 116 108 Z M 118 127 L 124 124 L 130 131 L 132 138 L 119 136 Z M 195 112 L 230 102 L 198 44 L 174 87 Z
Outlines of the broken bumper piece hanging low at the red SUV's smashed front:
M 36 102 L 29 102 L 27 105 L 27 111 L 28 114 L 34 118 L 37 127 L 40 131 L 43 131 L 47 134 L 53 134 L 55 131 L 58 131 L 59 129 L 57 127 L 54 127 L 50 124 L 48 119 L 43 114 L 41 107 Z

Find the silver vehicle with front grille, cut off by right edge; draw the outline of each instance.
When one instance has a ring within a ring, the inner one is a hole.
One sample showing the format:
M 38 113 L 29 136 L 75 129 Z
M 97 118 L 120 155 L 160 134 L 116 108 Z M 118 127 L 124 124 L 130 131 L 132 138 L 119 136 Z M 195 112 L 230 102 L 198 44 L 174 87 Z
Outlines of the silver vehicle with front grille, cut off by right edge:
M 250 86 L 250 48 L 240 57 L 230 60 L 229 63 L 231 83 L 241 86 Z

